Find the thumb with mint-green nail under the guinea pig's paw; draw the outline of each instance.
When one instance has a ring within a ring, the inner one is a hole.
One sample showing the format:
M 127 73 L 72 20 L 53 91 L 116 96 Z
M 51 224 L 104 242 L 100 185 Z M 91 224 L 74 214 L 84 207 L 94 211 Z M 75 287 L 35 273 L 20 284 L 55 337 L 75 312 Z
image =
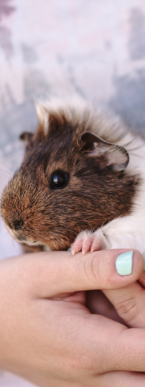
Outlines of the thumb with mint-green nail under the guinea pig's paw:
M 126 275 L 118 274 L 118 256 L 127 269 L 129 257 L 130 268 Z M 144 260 L 137 250 L 132 253 L 127 249 L 103 250 L 84 256 L 79 252 L 74 257 L 71 252 L 56 251 L 16 257 L 15 266 L 15 270 L 22 273 L 18 273 L 19 277 L 25 272 L 31 293 L 46 298 L 81 290 L 124 288 L 140 277 Z

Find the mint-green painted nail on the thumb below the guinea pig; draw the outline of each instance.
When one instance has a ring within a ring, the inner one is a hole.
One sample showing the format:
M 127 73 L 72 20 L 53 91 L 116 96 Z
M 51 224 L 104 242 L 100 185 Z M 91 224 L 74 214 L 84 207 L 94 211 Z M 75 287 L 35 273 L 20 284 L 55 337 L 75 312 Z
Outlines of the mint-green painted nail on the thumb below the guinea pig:
M 120 276 L 128 276 L 132 273 L 133 251 L 126 251 L 118 255 L 115 266 Z

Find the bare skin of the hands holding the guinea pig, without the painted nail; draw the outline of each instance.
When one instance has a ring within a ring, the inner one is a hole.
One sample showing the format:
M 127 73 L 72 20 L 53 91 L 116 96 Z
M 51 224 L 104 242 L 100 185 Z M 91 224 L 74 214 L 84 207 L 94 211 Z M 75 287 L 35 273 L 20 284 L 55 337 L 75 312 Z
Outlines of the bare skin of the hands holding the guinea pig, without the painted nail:
M 120 276 L 115 261 L 125 251 L 1 261 L 0 368 L 40 387 L 143 387 L 145 289 L 137 280 L 144 261 L 134 251 L 132 274 Z M 130 329 L 89 311 L 85 290 L 93 289 L 102 289 Z

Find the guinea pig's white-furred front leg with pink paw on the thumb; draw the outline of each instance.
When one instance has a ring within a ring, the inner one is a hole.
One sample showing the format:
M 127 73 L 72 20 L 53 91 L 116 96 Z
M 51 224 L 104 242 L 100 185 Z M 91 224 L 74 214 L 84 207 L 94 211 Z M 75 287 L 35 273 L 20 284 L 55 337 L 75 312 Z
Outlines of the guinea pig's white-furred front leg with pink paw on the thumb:
M 141 206 L 140 206 L 141 207 Z M 71 252 L 133 248 L 145 255 L 145 214 L 138 211 L 108 222 L 96 231 L 82 231 L 71 245 Z

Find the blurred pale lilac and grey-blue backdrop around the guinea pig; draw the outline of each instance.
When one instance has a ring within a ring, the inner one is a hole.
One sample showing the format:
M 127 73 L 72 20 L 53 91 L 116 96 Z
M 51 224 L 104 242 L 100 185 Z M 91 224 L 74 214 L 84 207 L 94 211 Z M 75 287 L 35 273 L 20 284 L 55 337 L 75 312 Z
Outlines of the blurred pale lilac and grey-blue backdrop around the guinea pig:
M 0 0 L 0 192 L 37 126 L 35 99 L 74 92 L 145 136 L 145 1 Z M 0 259 L 21 252 L 1 219 L 0 246 Z M 0 375 L 0 387 L 31 385 Z

